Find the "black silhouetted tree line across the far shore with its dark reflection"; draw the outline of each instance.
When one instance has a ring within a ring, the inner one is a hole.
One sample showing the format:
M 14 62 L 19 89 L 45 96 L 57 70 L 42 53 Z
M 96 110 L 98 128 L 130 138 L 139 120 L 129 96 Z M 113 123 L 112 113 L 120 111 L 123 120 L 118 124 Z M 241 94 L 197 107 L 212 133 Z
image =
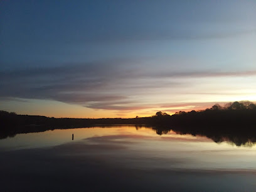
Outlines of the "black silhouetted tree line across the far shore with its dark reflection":
M 207 135 L 223 134 L 254 134 L 256 136 L 256 105 L 250 101 L 230 102 L 223 106 L 213 105 L 205 110 L 179 111 L 173 115 L 157 112 L 151 117 L 130 119 L 102 118 L 75 119 L 54 118 L 39 115 L 18 115 L 14 112 L 0 111 L 0 139 L 25 132 L 41 132 L 53 129 L 71 129 L 90 127 L 92 125 L 135 124 L 161 127 L 157 134 L 169 130 L 179 132 L 195 132 Z

